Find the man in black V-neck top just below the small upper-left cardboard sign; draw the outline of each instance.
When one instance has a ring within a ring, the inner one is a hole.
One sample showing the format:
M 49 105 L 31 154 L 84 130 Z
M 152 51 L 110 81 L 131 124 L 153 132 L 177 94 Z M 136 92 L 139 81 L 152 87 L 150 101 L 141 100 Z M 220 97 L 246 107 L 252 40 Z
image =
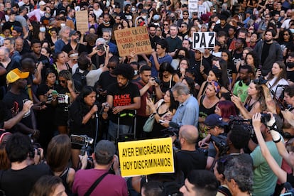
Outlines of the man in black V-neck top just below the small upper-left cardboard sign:
M 80 36 L 77 34 L 77 31 L 70 31 L 70 43 L 63 46 L 62 51 L 65 53 L 70 53 L 71 50 L 77 50 L 80 53 L 85 52 L 87 50 L 86 46 L 79 43 Z

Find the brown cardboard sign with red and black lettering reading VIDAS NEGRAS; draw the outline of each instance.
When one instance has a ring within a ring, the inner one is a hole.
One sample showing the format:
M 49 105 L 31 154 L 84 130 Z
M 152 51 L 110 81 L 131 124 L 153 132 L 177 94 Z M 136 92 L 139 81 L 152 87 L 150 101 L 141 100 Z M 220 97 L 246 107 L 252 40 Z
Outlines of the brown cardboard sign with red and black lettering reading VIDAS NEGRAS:
M 132 52 L 136 54 L 152 53 L 146 26 L 116 30 L 114 37 L 121 57 L 130 55 Z

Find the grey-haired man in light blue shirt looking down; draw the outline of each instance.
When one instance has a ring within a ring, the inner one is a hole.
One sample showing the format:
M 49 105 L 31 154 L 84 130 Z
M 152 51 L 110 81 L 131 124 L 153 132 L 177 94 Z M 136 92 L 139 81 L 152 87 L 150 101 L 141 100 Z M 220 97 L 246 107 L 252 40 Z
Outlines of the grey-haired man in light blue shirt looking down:
M 185 124 L 194 125 L 197 127 L 199 116 L 199 104 L 195 97 L 190 94 L 190 90 L 182 82 L 178 82 L 172 88 L 175 101 L 180 103 L 175 116 L 171 121 L 165 120 L 163 126 L 183 126 Z

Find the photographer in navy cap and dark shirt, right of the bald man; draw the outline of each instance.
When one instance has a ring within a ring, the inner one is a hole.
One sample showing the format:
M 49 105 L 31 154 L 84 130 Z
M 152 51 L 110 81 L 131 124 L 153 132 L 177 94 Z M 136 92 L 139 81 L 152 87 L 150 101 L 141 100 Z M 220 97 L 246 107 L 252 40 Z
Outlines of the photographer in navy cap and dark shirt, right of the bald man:
M 227 148 L 227 134 L 224 133 L 224 126 L 227 123 L 222 121 L 222 117 L 217 114 L 210 114 L 205 119 L 205 128 L 211 134 L 210 142 L 208 147 L 207 161 L 206 161 L 206 169 L 210 170 L 212 164 L 214 162 L 214 158 L 217 156 L 217 150 L 214 148 L 214 145 L 219 148 L 221 151 L 222 148 Z M 212 143 L 214 141 L 214 143 Z M 201 147 L 205 147 L 207 143 L 204 143 Z M 228 149 L 228 148 L 227 148 Z M 222 151 L 227 151 L 226 149 L 222 149 Z

